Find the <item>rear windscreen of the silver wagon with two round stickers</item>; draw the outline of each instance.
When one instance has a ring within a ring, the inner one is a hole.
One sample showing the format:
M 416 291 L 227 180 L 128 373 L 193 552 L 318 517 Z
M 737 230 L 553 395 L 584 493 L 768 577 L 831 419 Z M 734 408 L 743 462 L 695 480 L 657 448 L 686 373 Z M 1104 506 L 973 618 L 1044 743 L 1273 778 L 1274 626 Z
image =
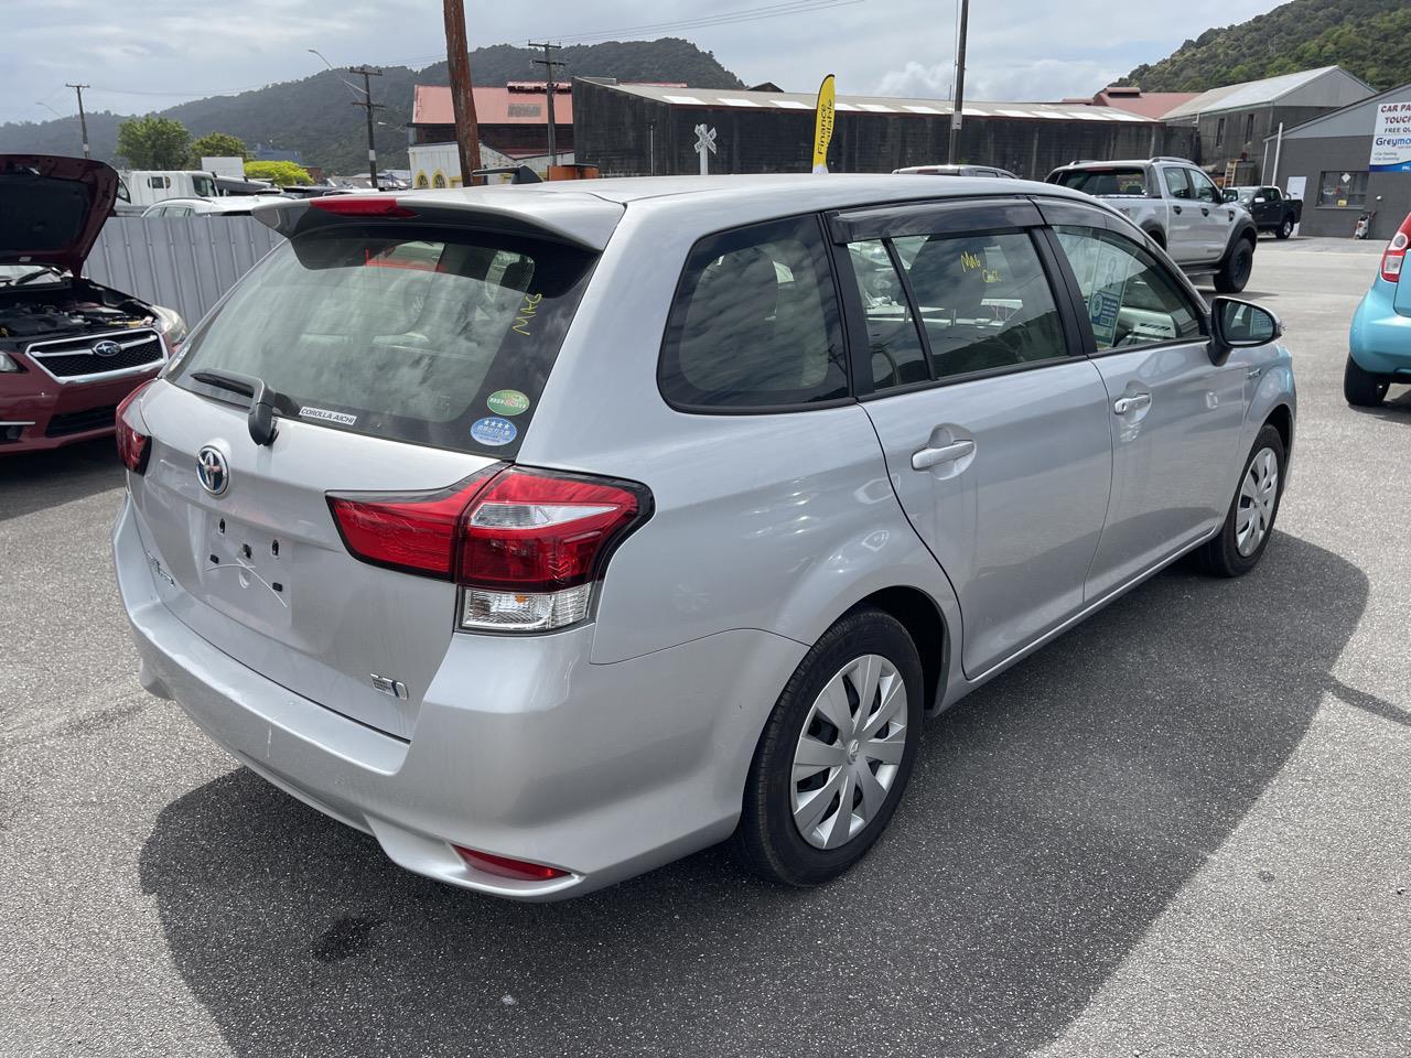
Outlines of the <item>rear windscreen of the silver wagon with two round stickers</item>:
M 169 378 L 254 375 L 279 415 L 377 437 L 512 456 L 594 255 L 411 226 L 333 229 L 274 250 L 182 348 Z

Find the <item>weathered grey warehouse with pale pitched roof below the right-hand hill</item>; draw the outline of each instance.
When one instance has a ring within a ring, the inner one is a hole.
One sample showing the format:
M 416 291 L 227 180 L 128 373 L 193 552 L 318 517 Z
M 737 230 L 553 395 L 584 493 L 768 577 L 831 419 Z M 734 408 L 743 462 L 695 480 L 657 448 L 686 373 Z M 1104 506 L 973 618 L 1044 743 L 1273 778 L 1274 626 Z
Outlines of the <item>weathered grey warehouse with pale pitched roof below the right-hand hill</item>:
M 1164 120 L 1197 131 L 1199 144 L 1189 157 L 1218 183 L 1264 183 L 1264 174 L 1271 172 L 1266 137 L 1370 95 L 1371 87 L 1342 66 L 1322 66 L 1202 92 L 1168 110 Z

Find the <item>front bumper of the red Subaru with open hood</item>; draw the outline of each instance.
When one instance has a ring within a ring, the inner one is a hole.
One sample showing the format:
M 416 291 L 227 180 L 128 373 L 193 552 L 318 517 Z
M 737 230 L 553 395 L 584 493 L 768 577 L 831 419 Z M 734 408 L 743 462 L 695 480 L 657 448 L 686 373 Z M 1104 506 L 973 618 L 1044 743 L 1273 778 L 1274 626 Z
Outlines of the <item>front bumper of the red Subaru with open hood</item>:
M 0 457 L 110 437 L 117 405 L 157 378 L 161 367 L 110 381 L 62 385 L 40 371 L 0 375 Z

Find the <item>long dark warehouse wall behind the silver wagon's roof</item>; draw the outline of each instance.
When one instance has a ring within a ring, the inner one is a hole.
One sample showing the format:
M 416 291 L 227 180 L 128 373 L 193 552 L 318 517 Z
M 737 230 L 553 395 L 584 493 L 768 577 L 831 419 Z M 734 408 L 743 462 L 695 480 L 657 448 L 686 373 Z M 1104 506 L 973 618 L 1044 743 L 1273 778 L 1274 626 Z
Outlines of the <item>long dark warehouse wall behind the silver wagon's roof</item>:
M 604 176 L 694 174 L 697 124 L 715 128 L 711 172 L 807 172 L 811 110 L 745 110 L 660 103 L 579 80 L 573 87 L 577 159 Z M 840 113 L 828 154 L 834 172 L 890 172 L 945 161 L 948 116 Z M 1043 179 L 1075 158 L 1188 154 L 1194 128 L 1156 123 L 968 117 L 959 161 Z

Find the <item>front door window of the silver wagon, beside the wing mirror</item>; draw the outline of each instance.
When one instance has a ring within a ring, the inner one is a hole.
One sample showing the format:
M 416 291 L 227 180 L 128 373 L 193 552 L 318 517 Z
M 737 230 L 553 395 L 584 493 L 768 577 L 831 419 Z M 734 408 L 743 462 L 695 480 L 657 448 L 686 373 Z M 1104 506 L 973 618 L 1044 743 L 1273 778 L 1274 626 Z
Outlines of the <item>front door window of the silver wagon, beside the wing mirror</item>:
M 1078 278 L 1098 351 L 1199 336 L 1195 308 L 1146 250 L 1091 227 L 1054 231 Z

